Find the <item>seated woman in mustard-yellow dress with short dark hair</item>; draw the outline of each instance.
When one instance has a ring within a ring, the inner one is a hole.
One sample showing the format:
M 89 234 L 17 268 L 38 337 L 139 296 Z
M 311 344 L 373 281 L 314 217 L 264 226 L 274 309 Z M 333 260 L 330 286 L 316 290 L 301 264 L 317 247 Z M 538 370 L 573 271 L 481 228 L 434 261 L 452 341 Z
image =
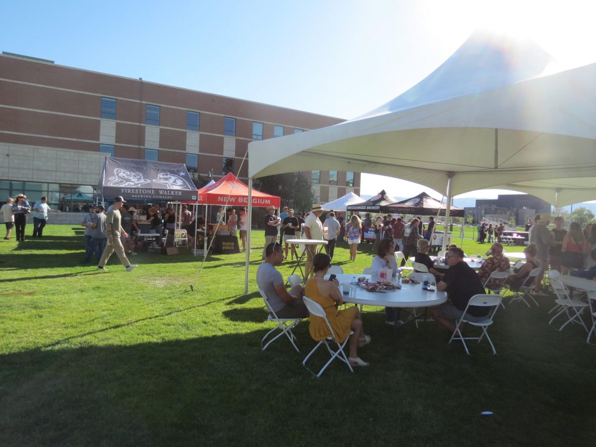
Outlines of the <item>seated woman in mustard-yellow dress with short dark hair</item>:
M 327 315 L 331 328 L 336 335 L 336 340 L 343 343 L 347 337 L 350 337 L 350 355 L 348 360 L 352 366 L 367 367 L 368 363 L 358 357 L 358 347 L 365 346 L 371 342 L 371 337 L 364 334 L 362 327 L 362 318 L 360 311 L 356 306 L 339 311 L 336 306 L 342 305 L 342 295 L 339 293 L 337 280 L 328 281 L 324 279 L 327 271 L 331 267 L 331 257 L 328 254 L 318 253 L 313 259 L 313 268 L 315 276 L 306 283 L 305 296 L 316 303 L 319 303 Z M 311 337 L 317 342 L 331 337 L 327 323 L 320 316 L 310 316 L 309 332 Z M 354 332 L 350 336 L 350 329 Z

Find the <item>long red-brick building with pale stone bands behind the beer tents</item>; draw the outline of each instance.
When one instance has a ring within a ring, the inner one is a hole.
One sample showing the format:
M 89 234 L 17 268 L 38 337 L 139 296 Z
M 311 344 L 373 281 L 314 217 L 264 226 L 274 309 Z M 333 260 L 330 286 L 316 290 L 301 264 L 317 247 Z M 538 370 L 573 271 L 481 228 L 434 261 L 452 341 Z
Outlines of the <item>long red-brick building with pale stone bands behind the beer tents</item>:
M 0 55 L 0 203 L 24 193 L 80 211 L 106 154 L 186 163 L 195 179 L 238 172 L 250 141 L 342 122 L 52 61 Z M 303 173 L 322 203 L 353 191 L 353 172 Z M 240 179 L 247 180 L 247 161 Z

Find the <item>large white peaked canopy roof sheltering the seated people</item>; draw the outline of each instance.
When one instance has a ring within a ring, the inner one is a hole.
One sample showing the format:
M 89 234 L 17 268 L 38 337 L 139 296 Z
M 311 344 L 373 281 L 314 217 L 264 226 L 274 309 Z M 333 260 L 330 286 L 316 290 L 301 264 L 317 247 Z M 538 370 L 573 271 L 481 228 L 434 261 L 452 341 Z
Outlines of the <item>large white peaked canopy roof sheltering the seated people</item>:
M 596 64 L 546 75 L 550 63 L 534 42 L 474 33 L 364 116 L 251 142 L 249 182 L 288 170 L 367 172 L 425 185 L 450 203 L 498 185 L 594 178 Z

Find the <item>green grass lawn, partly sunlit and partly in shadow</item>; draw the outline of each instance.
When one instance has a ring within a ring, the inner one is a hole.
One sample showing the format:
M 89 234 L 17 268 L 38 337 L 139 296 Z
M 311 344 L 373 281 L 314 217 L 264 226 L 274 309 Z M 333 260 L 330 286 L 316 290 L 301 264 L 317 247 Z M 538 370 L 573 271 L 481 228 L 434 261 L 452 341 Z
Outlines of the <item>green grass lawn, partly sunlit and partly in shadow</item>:
M 371 366 L 350 374 L 336 361 L 315 378 L 301 364 L 308 321 L 300 354 L 285 339 L 260 350 L 271 328 L 254 281 L 263 232 L 244 295 L 243 254 L 209 256 L 200 275 L 185 249 L 140 254 L 133 272 L 114 255 L 98 272 L 79 263 L 79 228 L 0 240 L 2 446 L 594 443 L 596 346 L 576 325 L 548 326 L 552 297 L 531 309 L 505 300 L 489 330 L 496 356 L 484 342 L 467 356 L 433 322 L 394 337 L 383 315 L 364 313 L 373 343 L 359 354 Z M 335 260 L 359 273 L 372 257 L 361 244 L 349 262 L 340 244 Z

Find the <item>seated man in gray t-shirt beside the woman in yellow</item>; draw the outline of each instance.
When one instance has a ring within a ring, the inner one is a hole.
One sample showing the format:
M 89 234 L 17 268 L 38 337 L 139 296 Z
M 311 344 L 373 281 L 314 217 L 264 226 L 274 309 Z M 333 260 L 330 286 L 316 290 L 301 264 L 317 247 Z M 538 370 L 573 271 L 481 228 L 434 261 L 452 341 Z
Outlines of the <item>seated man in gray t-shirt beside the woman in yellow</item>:
M 257 284 L 265 292 L 269 305 L 278 318 L 306 318 L 308 309 L 302 300 L 304 287 L 294 285 L 288 293 L 285 290 L 284 278 L 275 269 L 284 260 L 281 244 L 274 242 L 265 247 L 266 259 L 257 269 Z

